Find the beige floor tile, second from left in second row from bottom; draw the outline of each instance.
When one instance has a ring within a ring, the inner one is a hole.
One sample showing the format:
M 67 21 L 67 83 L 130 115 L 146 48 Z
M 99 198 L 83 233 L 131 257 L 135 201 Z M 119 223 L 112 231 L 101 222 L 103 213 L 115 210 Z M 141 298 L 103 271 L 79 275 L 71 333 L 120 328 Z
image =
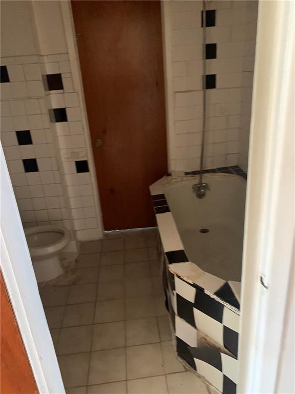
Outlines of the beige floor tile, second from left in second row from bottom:
M 88 384 L 126 379 L 126 350 L 100 350 L 91 353 Z

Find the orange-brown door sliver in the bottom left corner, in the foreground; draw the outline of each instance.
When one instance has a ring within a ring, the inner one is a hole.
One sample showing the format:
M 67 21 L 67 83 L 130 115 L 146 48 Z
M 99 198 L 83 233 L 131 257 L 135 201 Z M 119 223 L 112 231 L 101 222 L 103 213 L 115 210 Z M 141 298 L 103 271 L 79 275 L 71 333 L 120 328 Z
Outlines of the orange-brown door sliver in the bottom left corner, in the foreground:
M 37 389 L 22 337 L 14 317 L 5 283 L 1 286 L 1 380 L 3 394 L 37 394 Z

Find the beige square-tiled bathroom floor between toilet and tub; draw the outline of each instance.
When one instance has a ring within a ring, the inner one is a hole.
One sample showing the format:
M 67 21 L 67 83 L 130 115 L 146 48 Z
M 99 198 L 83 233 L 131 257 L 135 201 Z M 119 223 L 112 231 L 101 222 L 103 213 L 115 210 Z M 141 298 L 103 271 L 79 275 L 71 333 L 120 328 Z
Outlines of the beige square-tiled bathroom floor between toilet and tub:
M 72 286 L 40 289 L 68 394 L 208 394 L 176 359 L 154 229 L 81 245 Z

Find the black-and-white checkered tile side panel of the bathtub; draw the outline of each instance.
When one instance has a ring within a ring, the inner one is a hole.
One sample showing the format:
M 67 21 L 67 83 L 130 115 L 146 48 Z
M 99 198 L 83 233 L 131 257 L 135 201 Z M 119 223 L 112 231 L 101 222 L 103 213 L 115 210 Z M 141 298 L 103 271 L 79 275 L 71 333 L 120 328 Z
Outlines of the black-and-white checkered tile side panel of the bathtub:
M 166 295 L 178 356 L 219 391 L 235 394 L 239 314 L 166 269 Z M 198 330 L 230 353 L 199 346 Z

